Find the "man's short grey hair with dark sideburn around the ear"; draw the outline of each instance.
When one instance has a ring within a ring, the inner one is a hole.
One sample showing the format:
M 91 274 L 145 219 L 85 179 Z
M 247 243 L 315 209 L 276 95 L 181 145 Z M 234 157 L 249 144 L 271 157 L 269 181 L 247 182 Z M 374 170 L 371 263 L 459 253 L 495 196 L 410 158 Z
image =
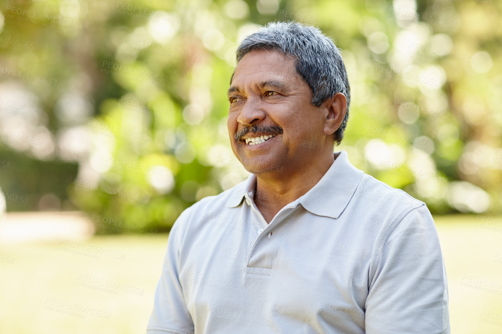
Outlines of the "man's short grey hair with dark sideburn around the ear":
M 312 90 L 312 105 L 316 107 L 338 92 L 345 95 L 347 110 L 333 134 L 336 143 L 340 144 L 348 121 L 350 86 L 343 59 L 333 41 L 312 26 L 293 21 L 271 22 L 240 43 L 236 51 L 237 63 L 253 50 L 277 50 L 295 57 L 296 72 Z

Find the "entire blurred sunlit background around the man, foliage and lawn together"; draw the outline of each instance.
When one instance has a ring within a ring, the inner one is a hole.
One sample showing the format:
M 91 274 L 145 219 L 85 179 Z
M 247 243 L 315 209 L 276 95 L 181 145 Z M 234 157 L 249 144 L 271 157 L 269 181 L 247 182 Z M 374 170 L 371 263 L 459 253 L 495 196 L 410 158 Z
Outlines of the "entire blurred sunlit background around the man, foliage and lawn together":
M 502 332 L 502 3 L 0 2 L 0 332 L 144 332 L 169 229 L 249 173 L 233 155 L 235 50 L 272 21 L 330 36 L 342 144 L 427 203 L 455 333 Z

